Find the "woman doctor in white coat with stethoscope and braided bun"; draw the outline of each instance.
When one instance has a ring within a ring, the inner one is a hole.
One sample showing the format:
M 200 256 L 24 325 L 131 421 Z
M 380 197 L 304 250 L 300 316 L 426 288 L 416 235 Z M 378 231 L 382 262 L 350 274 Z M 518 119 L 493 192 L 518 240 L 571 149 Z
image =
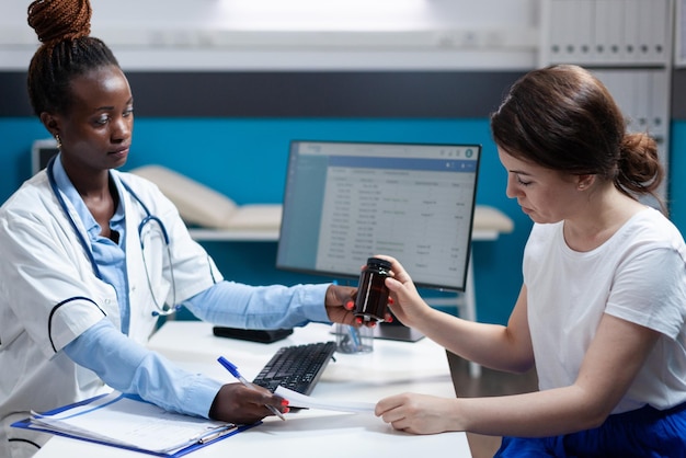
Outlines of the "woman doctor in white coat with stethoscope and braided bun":
M 28 68 L 34 112 L 60 153 L 0 208 L 0 456 L 49 436 L 10 425 L 104 391 L 236 423 L 286 412 L 271 392 L 185 373 L 146 350 L 165 304 L 249 329 L 354 323 L 335 285 L 252 287 L 222 279 L 175 207 L 115 169 L 132 144 L 134 99 L 83 0 L 28 7 L 41 47 Z M 172 309 L 173 310 L 173 309 Z

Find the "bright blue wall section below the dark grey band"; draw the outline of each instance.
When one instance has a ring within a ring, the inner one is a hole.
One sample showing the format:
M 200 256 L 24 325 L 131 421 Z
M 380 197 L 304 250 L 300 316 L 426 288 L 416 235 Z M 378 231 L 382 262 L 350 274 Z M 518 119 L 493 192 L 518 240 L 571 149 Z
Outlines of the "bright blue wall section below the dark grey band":
M 504 194 L 506 175 L 490 138 L 488 119 L 139 117 L 135 129 L 127 169 L 164 164 L 239 204 L 282 202 L 291 139 L 482 144 L 477 202 L 506 213 L 515 221 L 515 231 L 495 242 L 475 243 L 477 313 L 479 321 L 506 322 L 522 283 L 522 250 L 531 224 Z M 673 123 L 672 131 L 672 150 L 686 148 L 686 122 Z M 46 137 L 47 133 L 34 118 L 0 118 L 1 153 L 5 164 L 0 168 L 0 202 L 30 175 L 31 142 Z M 684 231 L 686 184 L 675 182 L 686 171 L 686 160 L 673 153 L 671 170 L 672 218 Z M 330 279 L 276 270 L 276 243 L 208 242 L 205 247 L 225 276 L 238 282 L 290 285 Z

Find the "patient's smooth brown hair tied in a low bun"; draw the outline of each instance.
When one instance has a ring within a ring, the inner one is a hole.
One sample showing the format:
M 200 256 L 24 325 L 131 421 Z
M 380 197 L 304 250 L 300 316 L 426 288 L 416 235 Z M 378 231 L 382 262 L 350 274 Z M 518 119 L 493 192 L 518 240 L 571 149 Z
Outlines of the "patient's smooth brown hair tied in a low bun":
M 508 154 L 547 169 L 595 174 L 636 197 L 664 178 L 655 140 L 627 133 L 607 88 L 573 65 L 534 70 L 517 80 L 491 114 L 495 144 Z

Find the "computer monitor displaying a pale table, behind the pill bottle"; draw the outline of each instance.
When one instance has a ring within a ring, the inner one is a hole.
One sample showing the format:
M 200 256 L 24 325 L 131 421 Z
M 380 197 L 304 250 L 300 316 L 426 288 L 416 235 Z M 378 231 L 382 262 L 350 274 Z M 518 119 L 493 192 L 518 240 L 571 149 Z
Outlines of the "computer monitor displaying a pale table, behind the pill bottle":
M 276 256 L 357 278 L 397 257 L 418 286 L 465 290 L 479 145 L 293 141 Z

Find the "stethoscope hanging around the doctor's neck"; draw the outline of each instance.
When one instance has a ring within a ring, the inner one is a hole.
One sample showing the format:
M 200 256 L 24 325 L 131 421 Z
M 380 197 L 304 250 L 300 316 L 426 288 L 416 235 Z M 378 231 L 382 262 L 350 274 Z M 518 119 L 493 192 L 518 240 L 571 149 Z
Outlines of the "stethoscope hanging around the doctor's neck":
M 50 161 L 48 162 L 47 168 L 46 168 L 47 169 L 46 173 L 47 173 L 48 181 L 50 183 L 50 187 L 53 188 L 53 193 L 57 197 L 57 201 L 59 202 L 59 205 L 61 206 L 62 210 L 65 211 L 65 215 L 67 216 L 67 219 L 69 219 L 69 224 L 71 225 L 71 228 L 73 229 L 73 231 L 76 232 L 77 237 L 79 238 L 79 242 L 83 247 L 83 250 L 85 251 L 85 254 L 88 255 L 88 259 L 91 262 L 91 266 L 93 267 L 93 273 L 95 274 L 95 276 L 98 278 L 100 278 L 102 280 L 103 277 L 102 277 L 102 274 L 100 273 L 100 268 L 98 267 L 98 263 L 95 262 L 95 257 L 93 256 L 93 252 L 91 250 L 91 245 L 90 245 L 90 243 L 88 243 L 88 241 L 83 237 L 83 233 L 81 233 L 81 231 L 77 227 L 76 221 L 73 220 L 73 218 L 69 214 L 69 208 L 67 207 L 67 203 L 65 202 L 65 198 L 62 197 L 61 193 L 59 192 L 59 188 L 57 187 L 57 181 L 55 180 L 55 172 L 53 171 L 56 158 L 57 158 L 57 156 L 53 157 L 50 159 Z M 157 217 L 157 216 L 152 215 L 152 213 L 150 213 L 150 210 L 148 209 L 148 206 L 142 203 L 140 197 L 138 197 L 138 195 L 134 192 L 134 190 L 132 190 L 130 186 L 124 182 L 124 180 L 119 180 L 119 182 L 122 183 L 122 186 L 124 186 L 126 192 L 132 197 L 134 197 L 134 199 L 136 202 L 138 202 L 140 207 L 146 213 L 146 216 L 142 218 L 142 220 L 138 225 L 138 239 L 140 240 L 140 251 L 141 251 L 141 255 L 142 255 L 144 270 L 146 271 L 146 279 L 148 282 L 148 289 L 150 290 L 150 296 L 152 296 L 152 301 L 155 302 L 155 307 L 157 308 L 157 310 L 152 311 L 152 316 L 153 317 L 167 317 L 167 316 L 170 316 L 170 314 L 176 312 L 181 308 L 181 306 L 176 305 L 176 282 L 175 282 L 175 278 L 174 278 L 174 265 L 171 262 L 171 249 L 169 247 L 169 234 L 167 233 L 167 228 L 164 227 L 164 224 L 162 222 L 162 220 L 159 217 Z M 159 229 L 160 233 L 162 234 L 162 239 L 164 240 L 164 245 L 167 248 L 167 255 L 168 255 L 168 259 L 170 260 L 169 271 L 170 271 L 171 284 L 172 284 L 172 299 L 173 299 L 172 300 L 172 304 L 173 304 L 172 306 L 168 306 L 167 304 L 160 305 L 158 302 L 156 296 L 155 296 L 155 291 L 152 290 L 152 282 L 150 280 L 150 274 L 148 272 L 148 263 L 146 262 L 146 254 L 145 254 L 146 251 L 145 251 L 145 243 L 144 243 L 144 230 L 146 229 L 147 225 L 157 226 L 157 228 Z

